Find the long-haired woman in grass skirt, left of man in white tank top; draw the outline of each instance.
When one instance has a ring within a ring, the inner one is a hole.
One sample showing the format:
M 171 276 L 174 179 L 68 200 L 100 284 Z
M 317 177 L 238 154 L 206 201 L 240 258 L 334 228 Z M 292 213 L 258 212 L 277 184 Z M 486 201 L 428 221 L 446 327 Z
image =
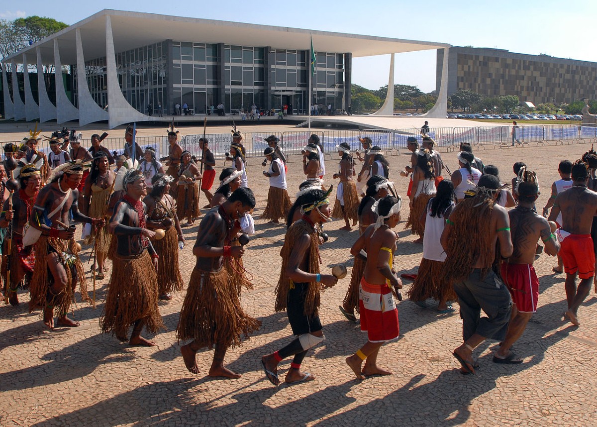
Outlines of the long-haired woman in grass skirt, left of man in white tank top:
M 419 150 L 417 165 L 413 171 L 413 191 L 410 198 L 410 215 L 408 216 L 405 229 L 411 228 L 411 233 L 420 236 L 417 243 L 423 241 L 425 226 L 421 222 L 421 213 L 425 210 L 427 202 L 435 194 L 435 174 L 433 174 L 433 163 L 429 150 Z

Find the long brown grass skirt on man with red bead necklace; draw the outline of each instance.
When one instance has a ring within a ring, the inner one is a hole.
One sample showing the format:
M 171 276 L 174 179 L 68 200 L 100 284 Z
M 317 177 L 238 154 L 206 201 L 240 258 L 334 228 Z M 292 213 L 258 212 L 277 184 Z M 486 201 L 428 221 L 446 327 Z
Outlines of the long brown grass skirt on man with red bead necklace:
M 128 336 L 128 327 L 144 320 L 148 331 L 164 327 L 158 309 L 158 279 L 147 251 L 139 256 L 116 255 L 108 283 L 101 331 Z

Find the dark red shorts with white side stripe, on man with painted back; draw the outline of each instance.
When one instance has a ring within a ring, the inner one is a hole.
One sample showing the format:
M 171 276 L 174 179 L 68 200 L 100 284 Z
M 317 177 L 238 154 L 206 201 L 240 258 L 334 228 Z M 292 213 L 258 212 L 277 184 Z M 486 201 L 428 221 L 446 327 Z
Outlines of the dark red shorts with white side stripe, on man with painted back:
M 512 302 L 521 313 L 537 311 L 539 279 L 532 264 L 501 265 L 501 279 L 510 291 Z

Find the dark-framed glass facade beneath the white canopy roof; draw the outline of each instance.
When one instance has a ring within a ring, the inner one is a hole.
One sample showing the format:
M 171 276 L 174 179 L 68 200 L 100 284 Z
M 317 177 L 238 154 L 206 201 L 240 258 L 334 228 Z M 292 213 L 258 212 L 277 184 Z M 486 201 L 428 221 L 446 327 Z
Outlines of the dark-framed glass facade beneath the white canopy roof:
M 345 55 L 316 53 L 313 103 L 344 109 Z M 147 113 L 158 102 L 165 114 L 184 103 L 197 114 L 224 104 L 226 113 L 281 109 L 306 113 L 309 51 L 170 41 L 116 54 L 118 82 L 127 101 Z M 107 105 L 106 59 L 85 63 L 96 103 Z

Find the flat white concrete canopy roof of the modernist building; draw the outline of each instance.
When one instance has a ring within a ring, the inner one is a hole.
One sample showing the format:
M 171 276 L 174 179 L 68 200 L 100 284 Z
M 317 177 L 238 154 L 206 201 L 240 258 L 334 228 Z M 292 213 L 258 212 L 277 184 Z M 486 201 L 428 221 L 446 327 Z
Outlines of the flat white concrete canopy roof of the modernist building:
M 20 63 L 22 54 L 25 53 L 27 60 L 35 63 L 36 47 L 39 46 L 42 62 L 52 64 L 54 63 L 53 41 L 57 38 L 60 44 L 61 62 L 74 64 L 76 63 L 75 29 L 81 29 L 85 60 L 104 57 L 106 55 L 106 15 L 109 15 L 112 21 L 116 52 L 139 48 L 166 39 L 309 50 L 309 35 L 313 36 L 315 51 L 352 53 L 353 57 L 450 47 L 450 44 L 445 43 L 104 9 L 20 50 L 7 57 L 5 61 L 14 58 Z

